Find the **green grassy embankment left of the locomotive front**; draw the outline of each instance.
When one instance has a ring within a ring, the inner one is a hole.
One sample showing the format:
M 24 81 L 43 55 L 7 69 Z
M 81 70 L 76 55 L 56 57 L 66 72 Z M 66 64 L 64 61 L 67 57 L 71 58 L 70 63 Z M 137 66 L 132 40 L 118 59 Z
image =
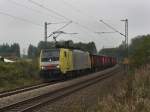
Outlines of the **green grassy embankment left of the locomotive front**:
M 0 62 L 0 91 L 39 83 L 37 65 L 34 61 Z

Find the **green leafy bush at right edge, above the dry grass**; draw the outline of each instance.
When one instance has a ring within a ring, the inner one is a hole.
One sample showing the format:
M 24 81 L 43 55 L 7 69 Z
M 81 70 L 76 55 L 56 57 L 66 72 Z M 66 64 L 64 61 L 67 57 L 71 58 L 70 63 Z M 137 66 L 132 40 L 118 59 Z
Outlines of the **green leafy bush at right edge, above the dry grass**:
M 134 67 L 150 62 L 150 35 L 138 36 L 132 39 L 130 61 Z

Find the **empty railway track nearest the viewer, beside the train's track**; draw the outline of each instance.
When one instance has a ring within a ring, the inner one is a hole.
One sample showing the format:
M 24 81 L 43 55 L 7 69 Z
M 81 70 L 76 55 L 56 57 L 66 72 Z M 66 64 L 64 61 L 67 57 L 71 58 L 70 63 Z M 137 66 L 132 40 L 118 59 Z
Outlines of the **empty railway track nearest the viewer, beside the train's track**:
M 21 102 L 7 105 L 0 108 L 0 112 L 30 112 L 35 108 L 39 108 L 40 106 L 43 106 L 47 103 L 55 102 L 60 98 L 68 96 L 69 94 L 72 94 L 80 89 L 86 88 L 92 84 L 107 79 L 118 72 L 120 72 L 120 70 L 118 70 L 118 67 L 116 67 L 115 69 L 112 69 L 108 72 L 102 72 L 100 75 L 89 75 L 88 77 L 81 77 L 81 80 L 72 80 L 68 85 L 66 84 L 67 82 L 64 82 L 64 86 L 60 89 L 56 89 L 50 93 L 46 93 L 32 99 L 27 99 Z

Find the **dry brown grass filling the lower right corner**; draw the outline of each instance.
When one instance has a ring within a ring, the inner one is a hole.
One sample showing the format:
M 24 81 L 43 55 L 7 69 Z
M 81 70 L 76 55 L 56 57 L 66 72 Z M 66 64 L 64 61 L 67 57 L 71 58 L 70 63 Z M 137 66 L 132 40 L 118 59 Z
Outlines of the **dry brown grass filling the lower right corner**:
M 150 112 L 150 68 L 128 74 L 115 92 L 99 98 L 96 112 Z

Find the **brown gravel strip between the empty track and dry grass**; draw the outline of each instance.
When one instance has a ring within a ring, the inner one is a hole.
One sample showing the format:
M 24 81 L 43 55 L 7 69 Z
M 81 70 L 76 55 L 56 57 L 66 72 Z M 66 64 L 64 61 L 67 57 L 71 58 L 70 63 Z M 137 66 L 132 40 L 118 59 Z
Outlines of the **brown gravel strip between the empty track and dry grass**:
M 94 112 L 99 96 L 109 94 L 110 89 L 115 88 L 118 81 L 123 79 L 124 73 L 115 74 L 109 79 L 84 88 L 74 94 L 64 97 L 54 103 L 35 109 L 34 112 Z

